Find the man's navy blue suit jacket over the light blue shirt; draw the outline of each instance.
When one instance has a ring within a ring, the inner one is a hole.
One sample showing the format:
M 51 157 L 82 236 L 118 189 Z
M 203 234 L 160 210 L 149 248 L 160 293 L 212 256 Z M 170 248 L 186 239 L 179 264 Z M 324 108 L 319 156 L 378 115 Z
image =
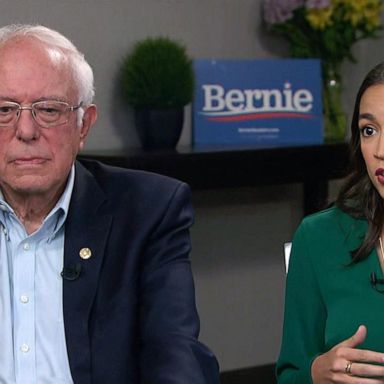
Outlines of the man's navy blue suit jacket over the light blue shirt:
M 184 183 L 76 162 L 64 267 L 81 272 L 63 280 L 75 384 L 219 383 L 215 357 L 197 341 L 192 220 Z

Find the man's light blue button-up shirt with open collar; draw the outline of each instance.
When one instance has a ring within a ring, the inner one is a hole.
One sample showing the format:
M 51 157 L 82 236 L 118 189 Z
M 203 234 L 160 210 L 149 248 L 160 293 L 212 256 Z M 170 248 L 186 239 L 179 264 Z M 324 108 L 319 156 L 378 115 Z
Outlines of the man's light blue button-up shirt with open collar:
M 0 193 L 0 384 L 73 384 L 60 272 L 74 177 L 31 235 Z

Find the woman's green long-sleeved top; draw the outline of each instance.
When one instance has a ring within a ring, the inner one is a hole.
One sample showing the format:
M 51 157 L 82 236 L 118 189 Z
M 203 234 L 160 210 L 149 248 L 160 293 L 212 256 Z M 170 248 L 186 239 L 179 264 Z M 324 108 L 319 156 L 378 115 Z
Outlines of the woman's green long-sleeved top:
M 384 293 L 370 282 L 372 272 L 383 278 L 376 250 L 349 265 L 366 230 L 365 220 L 332 207 L 305 218 L 296 231 L 276 367 L 279 384 L 312 383 L 313 359 L 352 336 L 360 324 L 368 329 L 361 348 L 384 352 Z

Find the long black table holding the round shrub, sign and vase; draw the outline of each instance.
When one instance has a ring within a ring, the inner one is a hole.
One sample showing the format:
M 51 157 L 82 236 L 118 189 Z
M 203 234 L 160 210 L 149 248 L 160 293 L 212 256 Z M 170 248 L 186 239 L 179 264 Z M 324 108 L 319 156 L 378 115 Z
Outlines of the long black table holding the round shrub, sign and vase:
M 177 178 L 192 189 L 303 183 L 304 211 L 327 197 L 328 180 L 345 175 L 346 143 L 275 148 L 177 148 L 175 151 L 88 152 L 79 156 Z

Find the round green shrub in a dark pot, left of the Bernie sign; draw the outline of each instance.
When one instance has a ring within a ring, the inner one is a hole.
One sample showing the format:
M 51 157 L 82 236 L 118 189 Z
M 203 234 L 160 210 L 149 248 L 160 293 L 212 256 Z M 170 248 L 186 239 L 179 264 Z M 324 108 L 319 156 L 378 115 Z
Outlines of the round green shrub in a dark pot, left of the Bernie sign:
M 192 101 L 194 72 L 185 47 L 167 37 L 135 44 L 122 64 L 123 94 L 134 108 L 144 149 L 174 148 Z

